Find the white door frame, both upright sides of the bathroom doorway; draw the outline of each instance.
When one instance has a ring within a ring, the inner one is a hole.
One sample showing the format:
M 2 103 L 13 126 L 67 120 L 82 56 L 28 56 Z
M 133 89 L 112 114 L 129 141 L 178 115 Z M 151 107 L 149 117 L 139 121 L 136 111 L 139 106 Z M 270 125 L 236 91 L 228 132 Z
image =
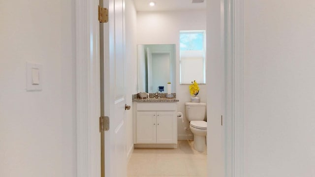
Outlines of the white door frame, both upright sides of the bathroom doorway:
M 218 1 L 226 27 L 220 31 L 225 35 L 225 176 L 243 177 L 243 0 Z M 77 177 L 100 176 L 97 4 L 75 0 Z

